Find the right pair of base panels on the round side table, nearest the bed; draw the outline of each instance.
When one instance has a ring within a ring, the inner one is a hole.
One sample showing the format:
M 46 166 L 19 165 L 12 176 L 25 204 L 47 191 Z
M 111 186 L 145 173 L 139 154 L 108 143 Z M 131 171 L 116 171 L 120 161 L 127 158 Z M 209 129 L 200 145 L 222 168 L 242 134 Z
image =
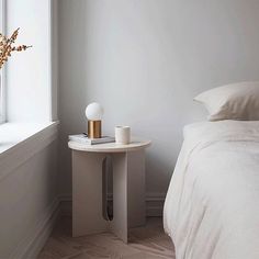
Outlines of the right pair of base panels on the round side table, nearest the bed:
M 112 155 L 113 221 L 111 230 L 127 243 L 128 227 L 144 225 L 145 150 Z

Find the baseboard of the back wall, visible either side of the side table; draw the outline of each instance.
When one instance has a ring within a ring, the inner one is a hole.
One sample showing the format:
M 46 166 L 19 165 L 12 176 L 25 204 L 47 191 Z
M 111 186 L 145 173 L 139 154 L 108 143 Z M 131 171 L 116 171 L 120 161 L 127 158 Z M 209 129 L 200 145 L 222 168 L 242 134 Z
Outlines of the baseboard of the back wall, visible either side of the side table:
M 146 194 L 146 215 L 150 216 L 162 216 L 164 202 L 166 193 L 147 193 Z M 72 199 L 71 194 L 59 195 L 60 201 L 60 214 L 71 215 Z

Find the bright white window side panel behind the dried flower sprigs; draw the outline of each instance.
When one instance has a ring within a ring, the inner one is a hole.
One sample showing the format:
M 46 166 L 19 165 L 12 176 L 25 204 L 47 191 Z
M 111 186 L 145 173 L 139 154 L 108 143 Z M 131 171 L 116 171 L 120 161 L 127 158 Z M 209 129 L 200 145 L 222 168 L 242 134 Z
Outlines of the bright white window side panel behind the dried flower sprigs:
M 20 27 L 16 44 L 33 45 L 15 53 L 7 66 L 7 120 L 49 122 L 50 0 L 7 0 L 7 33 Z

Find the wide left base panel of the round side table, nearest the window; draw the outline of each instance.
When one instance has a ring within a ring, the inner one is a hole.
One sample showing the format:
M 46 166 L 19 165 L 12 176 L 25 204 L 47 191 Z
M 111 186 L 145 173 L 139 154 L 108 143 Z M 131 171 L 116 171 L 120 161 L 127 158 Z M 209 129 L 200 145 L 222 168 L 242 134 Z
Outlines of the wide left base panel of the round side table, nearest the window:
M 72 236 L 105 232 L 102 161 L 105 154 L 72 151 Z

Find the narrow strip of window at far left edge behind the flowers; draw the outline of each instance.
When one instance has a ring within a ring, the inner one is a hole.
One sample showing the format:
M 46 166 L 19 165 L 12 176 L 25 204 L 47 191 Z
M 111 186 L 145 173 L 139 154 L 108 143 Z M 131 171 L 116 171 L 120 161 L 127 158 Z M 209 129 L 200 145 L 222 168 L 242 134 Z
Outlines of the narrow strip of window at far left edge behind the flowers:
M 5 34 L 5 0 L 0 0 L 0 32 Z M 0 70 L 0 124 L 5 122 L 5 71 Z

